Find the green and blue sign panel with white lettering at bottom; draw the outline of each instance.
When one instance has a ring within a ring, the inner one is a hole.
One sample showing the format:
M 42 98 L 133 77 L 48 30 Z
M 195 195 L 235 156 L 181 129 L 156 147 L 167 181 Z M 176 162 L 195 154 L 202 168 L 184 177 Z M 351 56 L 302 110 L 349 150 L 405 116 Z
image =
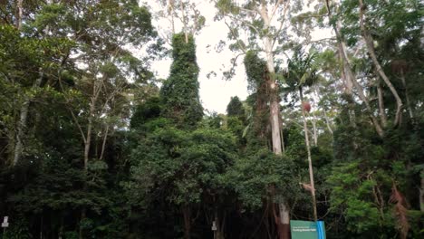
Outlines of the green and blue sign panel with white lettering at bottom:
M 325 239 L 325 226 L 323 221 L 290 221 L 292 239 Z

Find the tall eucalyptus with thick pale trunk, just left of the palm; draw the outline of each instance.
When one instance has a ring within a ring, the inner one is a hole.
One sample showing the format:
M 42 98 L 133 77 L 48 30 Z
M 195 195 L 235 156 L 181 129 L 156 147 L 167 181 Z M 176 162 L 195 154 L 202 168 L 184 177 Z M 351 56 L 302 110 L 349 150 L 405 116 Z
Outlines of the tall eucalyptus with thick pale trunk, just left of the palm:
M 269 104 L 270 124 L 275 155 L 282 155 L 280 105 L 278 84 L 275 77 L 275 49 L 278 43 L 287 37 L 287 12 L 290 1 L 246 1 L 242 4 L 230 0 L 216 1 L 217 19 L 225 21 L 229 28 L 228 38 L 234 43 L 231 48 L 246 53 L 248 50 L 265 54 L 266 70 L 270 81 Z M 247 42 L 243 41 L 246 37 Z M 236 59 L 233 60 L 236 62 Z M 231 75 L 231 72 L 230 72 Z M 284 202 L 279 203 L 279 216 L 275 220 L 280 238 L 288 238 L 289 208 Z

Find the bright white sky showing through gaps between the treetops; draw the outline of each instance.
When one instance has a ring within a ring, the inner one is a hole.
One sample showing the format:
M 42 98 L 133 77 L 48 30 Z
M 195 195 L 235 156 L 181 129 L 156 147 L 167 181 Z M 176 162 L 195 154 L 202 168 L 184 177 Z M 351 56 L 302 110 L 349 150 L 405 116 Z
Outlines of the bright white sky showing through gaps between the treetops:
M 209 1 L 198 1 L 198 10 L 206 18 L 206 26 L 195 36 L 197 44 L 198 66 L 200 68 L 198 81 L 200 83 L 200 100 L 205 110 L 216 111 L 217 113 L 226 113 L 226 105 L 232 96 L 238 96 L 240 100 L 246 100 L 247 97 L 247 81 L 245 67 L 242 62 L 243 57 L 239 57 L 238 66 L 236 67 L 236 75 L 231 81 L 224 81 L 220 70 L 228 70 L 230 60 L 236 55 L 225 47 L 225 49 L 217 53 L 215 46 L 220 40 L 226 41 L 228 29 L 223 22 L 215 22 L 215 7 Z M 151 5 L 152 11 L 159 9 L 159 5 Z M 160 29 L 170 29 L 169 21 L 154 21 Z M 178 24 L 176 25 L 178 32 Z M 320 30 L 313 38 L 329 37 L 330 31 Z M 209 46 L 209 47 L 208 47 Z M 169 67 L 171 59 L 153 62 L 153 71 L 157 72 L 159 78 L 166 79 L 169 75 Z M 207 79 L 208 72 L 217 72 L 217 76 L 211 76 Z

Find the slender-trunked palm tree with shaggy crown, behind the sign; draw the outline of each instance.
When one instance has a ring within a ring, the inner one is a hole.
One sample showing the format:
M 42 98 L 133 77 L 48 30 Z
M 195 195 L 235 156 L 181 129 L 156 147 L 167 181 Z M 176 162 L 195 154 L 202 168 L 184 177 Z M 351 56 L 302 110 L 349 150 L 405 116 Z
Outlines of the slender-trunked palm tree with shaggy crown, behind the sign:
M 311 192 L 313 198 L 313 219 L 317 221 L 316 211 L 316 198 L 315 198 L 315 185 L 313 182 L 313 165 L 311 158 L 311 146 L 308 137 L 308 128 L 306 125 L 305 107 L 304 107 L 304 87 L 312 86 L 319 77 L 317 69 L 314 66 L 315 54 L 304 53 L 300 47 L 294 49 L 294 55 L 288 60 L 287 72 L 284 74 L 286 83 L 288 84 L 288 91 L 298 91 L 301 100 L 302 117 L 304 119 L 304 143 L 308 154 L 309 163 L 309 179 L 310 185 L 304 185 L 305 189 Z

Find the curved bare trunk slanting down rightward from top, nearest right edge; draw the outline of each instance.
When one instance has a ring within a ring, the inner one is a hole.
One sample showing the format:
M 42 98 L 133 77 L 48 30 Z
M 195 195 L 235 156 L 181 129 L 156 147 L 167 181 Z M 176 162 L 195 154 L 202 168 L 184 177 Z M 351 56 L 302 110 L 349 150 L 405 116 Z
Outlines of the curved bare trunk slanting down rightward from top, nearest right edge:
M 398 91 L 394 88 L 394 86 L 391 84 L 389 78 L 387 77 L 386 73 L 382 70 L 380 62 L 377 60 L 377 56 L 374 51 L 374 43 L 372 40 L 371 35 L 367 32 L 365 29 L 365 24 L 363 20 L 363 14 L 365 11 L 364 5 L 362 3 L 362 0 L 359 0 L 360 2 L 360 24 L 361 24 L 361 32 L 362 32 L 362 38 L 365 41 L 367 45 L 368 53 L 370 53 L 371 60 L 374 63 L 374 66 L 376 68 L 376 71 L 380 74 L 382 80 L 386 83 L 386 85 L 389 87 L 391 93 L 393 94 L 394 98 L 396 99 L 396 115 L 394 120 L 394 125 L 400 124 L 401 119 L 401 110 L 402 110 L 402 100 L 400 99 L 400 96 L 398 94 Z

